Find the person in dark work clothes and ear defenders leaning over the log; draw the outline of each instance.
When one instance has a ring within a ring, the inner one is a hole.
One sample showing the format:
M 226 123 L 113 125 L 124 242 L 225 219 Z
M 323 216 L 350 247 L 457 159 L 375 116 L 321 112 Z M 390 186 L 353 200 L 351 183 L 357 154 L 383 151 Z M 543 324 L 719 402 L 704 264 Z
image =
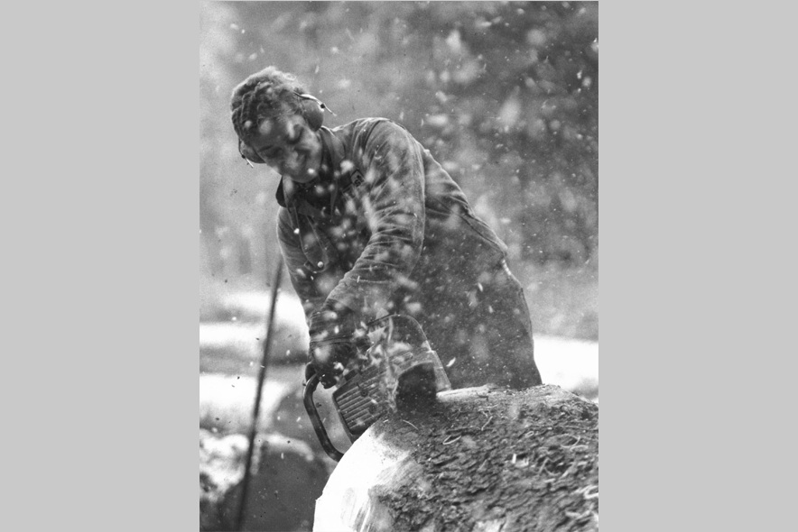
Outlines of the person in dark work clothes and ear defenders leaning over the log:
M 242 157 L 282 176 L 277 234 L 326 388 L 385 314 L 420 323 L 453 388 L 541 383 L 506 245 L 404 127 L 323 127 L 324 105 L 274 67 L 239 84 L 231 108 Z

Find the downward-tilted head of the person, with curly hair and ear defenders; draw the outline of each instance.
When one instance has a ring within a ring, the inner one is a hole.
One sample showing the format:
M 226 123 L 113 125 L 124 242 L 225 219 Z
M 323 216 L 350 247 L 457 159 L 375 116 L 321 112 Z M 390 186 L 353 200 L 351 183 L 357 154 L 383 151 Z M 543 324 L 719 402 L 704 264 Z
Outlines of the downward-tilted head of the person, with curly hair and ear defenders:
M 274 67 L 256 72 L 233 90 L 230 107 L 243 157 L 300 183 L 316 178 L 323 109 L 296 78 Z

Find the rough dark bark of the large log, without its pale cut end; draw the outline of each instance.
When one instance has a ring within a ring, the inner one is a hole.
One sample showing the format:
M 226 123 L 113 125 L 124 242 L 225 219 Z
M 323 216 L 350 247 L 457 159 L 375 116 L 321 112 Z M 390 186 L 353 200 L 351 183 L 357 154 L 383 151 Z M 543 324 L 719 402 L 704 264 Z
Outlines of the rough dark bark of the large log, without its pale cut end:
M 374 493 L 395 530 L 598 530 L 598 406 L 559 387 L 439 400 L 376 430 L 422 466 Z

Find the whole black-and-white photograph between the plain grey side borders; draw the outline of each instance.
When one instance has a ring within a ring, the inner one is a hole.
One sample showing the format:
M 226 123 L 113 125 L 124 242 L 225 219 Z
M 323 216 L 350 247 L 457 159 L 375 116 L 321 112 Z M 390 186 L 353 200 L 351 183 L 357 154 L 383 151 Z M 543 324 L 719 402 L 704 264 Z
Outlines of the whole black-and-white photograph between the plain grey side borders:
M 202 2 L 199 179 L 200 531 L 598 530 L 598 2 Z

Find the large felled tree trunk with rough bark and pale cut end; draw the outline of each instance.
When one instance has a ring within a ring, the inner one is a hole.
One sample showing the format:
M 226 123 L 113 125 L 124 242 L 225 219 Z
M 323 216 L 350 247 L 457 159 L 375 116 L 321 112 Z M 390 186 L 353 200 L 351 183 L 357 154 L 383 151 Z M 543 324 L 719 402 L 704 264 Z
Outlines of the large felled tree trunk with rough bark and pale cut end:
M 344 454 L 313 530 L 598 530 L 598 406 L 482 387 L 385 417 Z

